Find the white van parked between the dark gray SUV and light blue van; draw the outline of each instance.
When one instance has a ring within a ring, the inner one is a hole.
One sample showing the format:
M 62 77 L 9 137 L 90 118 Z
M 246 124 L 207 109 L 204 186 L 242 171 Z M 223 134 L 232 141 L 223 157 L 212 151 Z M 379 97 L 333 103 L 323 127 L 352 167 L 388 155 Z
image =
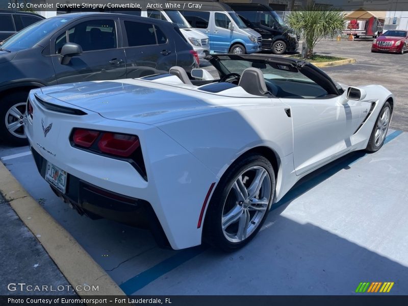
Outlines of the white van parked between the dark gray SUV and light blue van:
M 170 21 L 179 25 L 180 31 L 187 39 L 187 41 L 193 46 L 194 51 L 197 52 L 199 59 L 205 57 L 206 53 L 209 52 L 210 45 L 208 36 L 198 30 L 193 29 L 190 23 L 188 23 L 188 21 L 179 11 L 167 9 L 147 9 L 147 11 L 141 12 L 141 16 Z

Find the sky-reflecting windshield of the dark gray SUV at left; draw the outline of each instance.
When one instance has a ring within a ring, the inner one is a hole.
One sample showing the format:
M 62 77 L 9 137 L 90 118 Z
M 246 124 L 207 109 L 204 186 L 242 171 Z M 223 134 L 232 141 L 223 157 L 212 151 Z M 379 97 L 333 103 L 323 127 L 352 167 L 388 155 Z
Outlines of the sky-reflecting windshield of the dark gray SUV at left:
M 46 35 L 62 27 L 69 19 L 49 18 L 38 21 L 6 39 L 1 47 L 10 51 L 32 48 Z

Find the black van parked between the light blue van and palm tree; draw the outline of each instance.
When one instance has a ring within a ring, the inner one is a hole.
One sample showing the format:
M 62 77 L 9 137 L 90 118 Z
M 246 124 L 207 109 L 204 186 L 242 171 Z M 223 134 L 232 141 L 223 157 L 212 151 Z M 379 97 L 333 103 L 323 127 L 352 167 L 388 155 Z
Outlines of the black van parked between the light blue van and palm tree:
M 262 50 L 274 54 L 296 51 L 299 37 L 274 10 L 262 4 L 228 3 L 248 28 L 262 36 Z

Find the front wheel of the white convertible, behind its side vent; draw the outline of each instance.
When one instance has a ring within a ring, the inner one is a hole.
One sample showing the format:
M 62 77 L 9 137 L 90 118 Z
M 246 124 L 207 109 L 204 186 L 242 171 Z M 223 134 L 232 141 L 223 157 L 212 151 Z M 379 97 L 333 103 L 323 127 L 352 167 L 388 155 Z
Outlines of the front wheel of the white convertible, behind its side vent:
M 368 141 L 368 145 L 366 148 L 367 151 L 378 151 L 384 144 L 388 132 L 388 127 L 390 126 L 391 112 L 391 105 L 387 101 L 379 112 L 373 131 L 371 132 L 370 140 Z

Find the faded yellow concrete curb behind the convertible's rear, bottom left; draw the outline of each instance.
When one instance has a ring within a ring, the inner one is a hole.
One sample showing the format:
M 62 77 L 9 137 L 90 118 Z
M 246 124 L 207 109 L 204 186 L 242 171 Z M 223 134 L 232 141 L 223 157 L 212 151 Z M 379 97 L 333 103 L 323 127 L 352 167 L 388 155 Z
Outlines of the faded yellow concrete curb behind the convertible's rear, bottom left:
M 42 244 L 72 288 L 99 286 L 101 293 L 76 291 L 80 297 L 90 295 L 123 295 L 113 279 L 82 248 L 82 246 L 50 216 L 17 182 L 0 162 L 0 191 L 10 206 Z M 37 235 L 41 235 L 40 237 Z

